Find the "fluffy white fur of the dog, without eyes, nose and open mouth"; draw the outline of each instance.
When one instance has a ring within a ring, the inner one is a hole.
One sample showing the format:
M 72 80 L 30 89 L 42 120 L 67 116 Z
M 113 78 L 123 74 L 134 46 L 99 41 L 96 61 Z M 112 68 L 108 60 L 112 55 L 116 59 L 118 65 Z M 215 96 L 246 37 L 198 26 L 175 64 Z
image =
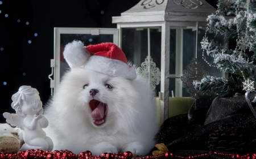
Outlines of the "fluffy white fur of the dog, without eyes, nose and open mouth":
M 84 89 L 85 84 L 88 87 Z M 106 84 L 113 88 L 106 88 Z M 93 98 L 108 104 L 106 121 L 101 126 L 93 124 L 88 104 L 92 99 L 90 89 L 98 89 Z M 45 109 L 47 136 L 53 140 L 53 149 L 73 153 L 89 150 L 93 155 L 131 151 L 143 156 L 154 148 L 158 131 L 153 95 L 141 76 L 128 80 L 73 68 L 64 75 Z

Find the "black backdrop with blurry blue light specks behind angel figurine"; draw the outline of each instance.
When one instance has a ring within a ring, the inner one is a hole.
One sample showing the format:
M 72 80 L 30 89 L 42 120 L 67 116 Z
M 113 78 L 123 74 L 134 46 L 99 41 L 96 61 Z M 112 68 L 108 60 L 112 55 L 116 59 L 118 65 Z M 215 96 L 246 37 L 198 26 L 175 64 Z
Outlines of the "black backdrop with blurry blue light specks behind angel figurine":
M 0 123 L 4 123 L 1 114 L 15 113 L 11 96 L 20 86 L 38 89 L 43 104 L 51 96 L 54 27 L 116 28 L 112 16 L 120 16 L 140 0 L 0 1 Z M 216 7 L 217 0 L 207 2 Z

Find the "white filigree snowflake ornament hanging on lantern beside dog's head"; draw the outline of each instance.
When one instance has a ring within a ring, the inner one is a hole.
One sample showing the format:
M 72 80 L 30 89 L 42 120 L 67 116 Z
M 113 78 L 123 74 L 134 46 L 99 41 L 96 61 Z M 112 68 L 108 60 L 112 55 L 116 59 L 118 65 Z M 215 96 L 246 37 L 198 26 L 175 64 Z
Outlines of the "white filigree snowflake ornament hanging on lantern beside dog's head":
M 149 61 L 148 61 L 149 59 Z M 148 56 L 146 57 L 145 61 L 141 63 L 141 67 L 137 67 L 136 71 L 148 78 L 150 81 L 150 87 L 155 89 L 156 85 L 160 83 L 161 80 L 161 72 L 158 67 L 156 67 L 155 62 L 153 59 Z

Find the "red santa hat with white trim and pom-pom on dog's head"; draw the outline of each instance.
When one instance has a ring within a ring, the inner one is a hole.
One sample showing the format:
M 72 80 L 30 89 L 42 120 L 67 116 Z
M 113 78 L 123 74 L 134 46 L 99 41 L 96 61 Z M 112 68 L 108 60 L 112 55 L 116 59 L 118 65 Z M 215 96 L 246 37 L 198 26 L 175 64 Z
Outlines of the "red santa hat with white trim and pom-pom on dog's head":
M 84 46 L 81 41 L 73 41 L 65 46 L 65 60 L 73 69 L 84 67 L 110 76 L 136 79 L 134 66 L 127 63 L 125 54 L 112 42 Z

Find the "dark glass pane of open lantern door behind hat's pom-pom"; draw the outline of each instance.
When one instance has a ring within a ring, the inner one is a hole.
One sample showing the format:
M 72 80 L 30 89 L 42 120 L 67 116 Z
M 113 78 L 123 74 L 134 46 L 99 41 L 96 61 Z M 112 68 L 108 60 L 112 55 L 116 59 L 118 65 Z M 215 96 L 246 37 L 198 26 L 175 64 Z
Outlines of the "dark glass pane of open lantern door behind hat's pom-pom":
M 113 42 L 113 35 L 90 35 L 90 34 L 60 34 L 60 79 L 69 69 L 68 63 L 63 57 L 65 45 L 73 40 L 84 42 L 85 46 L 100 44 L 101 42 Z

